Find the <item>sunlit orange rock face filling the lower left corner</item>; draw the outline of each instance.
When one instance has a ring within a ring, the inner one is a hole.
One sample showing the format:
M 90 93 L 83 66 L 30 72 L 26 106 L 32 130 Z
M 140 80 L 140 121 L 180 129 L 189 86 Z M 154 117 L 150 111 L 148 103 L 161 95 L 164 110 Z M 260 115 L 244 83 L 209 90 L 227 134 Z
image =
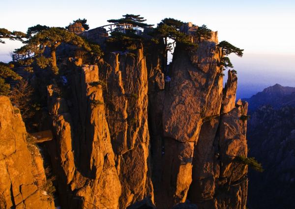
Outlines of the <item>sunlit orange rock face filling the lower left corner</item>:
M 0 208 L 54 209 L 42 184 L 46 181 L 39 150 L 27 145 L 20 110 L 0 96 Z

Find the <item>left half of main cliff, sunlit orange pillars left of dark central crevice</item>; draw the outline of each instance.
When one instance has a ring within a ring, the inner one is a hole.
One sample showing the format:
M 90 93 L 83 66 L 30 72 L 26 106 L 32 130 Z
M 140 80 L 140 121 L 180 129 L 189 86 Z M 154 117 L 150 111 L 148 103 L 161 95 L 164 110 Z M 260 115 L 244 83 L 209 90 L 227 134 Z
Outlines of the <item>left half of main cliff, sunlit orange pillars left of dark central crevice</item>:
M 68 100 L 48 87 L 56 136 L 48 147 L 64 207 L 126 208 L 152 199 L 143 50 L 72 70 Z

